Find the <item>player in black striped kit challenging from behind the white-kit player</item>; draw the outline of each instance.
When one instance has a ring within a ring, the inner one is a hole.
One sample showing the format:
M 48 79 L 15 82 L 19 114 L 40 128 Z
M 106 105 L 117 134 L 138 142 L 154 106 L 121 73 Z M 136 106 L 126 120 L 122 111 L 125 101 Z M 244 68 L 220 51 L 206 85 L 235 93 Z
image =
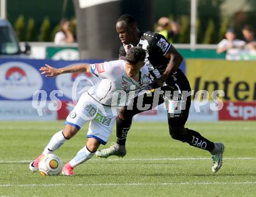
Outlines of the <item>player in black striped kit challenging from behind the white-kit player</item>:
M 150 95 L 140 95 L 134 98 L 128 106 L 119 110 L 116 120 L 116 144 L 110 148 L 96 152 L 99 157 L 111 155 L 126 155 L 126 137 L 131 127 L 131 121 L 135 114 L 150 110 L 165 102 L 168 110 L 169 133 L 173 139 L 187 142 L 189 145 L 207 150 L 212 155 L 212 172 L 218 171 L 222 166 L 224 145 L 219 142 L 211 142 L 202 137 L 199 132 L 184 127 L 189 117 L 191 104 L 191 91 L 189 81 L 182 70 L 179 69 L 182 63 L 182 55 L 175 47 L 166 41 L 163 35 L 150 31 L 140 32 L 137 22 L 130 15 L 122 15 L 116 23 L 116 31 L 119 34 L 122 46 L 119 50 L 119 59 L 125 58 L 126 52 L 133 46 L 141 46 L 147 52 L 145 64 L 150 70 L 154 79 L 153 87 L 157 88 Z M 142 96 L 142 97 L 141 97 Z M 143 109 L 143 105 L 150 108 Z

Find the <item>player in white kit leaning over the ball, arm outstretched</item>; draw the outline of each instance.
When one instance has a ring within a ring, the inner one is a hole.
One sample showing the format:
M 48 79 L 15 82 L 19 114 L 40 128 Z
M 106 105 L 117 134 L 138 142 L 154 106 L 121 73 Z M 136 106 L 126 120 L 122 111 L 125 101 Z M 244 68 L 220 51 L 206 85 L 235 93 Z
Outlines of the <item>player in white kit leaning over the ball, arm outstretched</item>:
M 150 89 L 151 78 L 144 65 L 145 51 L 139 46 L 127 52 L 126 60 L 116 60 L 92 65 L 76 65 L 55 69 L 46 65 L 41 74 L 56 77 L 59 74 L 73 72 L 91 72 L 100 80 L 84 92 L 75 108 L 65 121 L 65 128 L 56 132 L 42 154 L 30 163 L 31 171 L 38 170 L 38 163 L 47 153 L 52 153 L 72 138 L 81 127 L 90 121 L 86 146 L 77 152 L 62 169 L 63 175 L 74 175 L 73 169 L 80 163 L 91 159 L 100 144 L 105 145 L 111 135 L 117 109 L 127 106 L 143 89 Z

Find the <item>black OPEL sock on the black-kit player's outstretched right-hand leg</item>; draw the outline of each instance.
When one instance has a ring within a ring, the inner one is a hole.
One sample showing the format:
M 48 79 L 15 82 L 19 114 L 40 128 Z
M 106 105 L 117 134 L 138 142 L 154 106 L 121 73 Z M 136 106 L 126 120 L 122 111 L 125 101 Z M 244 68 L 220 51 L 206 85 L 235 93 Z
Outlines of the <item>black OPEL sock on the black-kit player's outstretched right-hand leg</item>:
M 202 135 L 200 135 L 200 133 L 197 131 L 190 130 L 188 128 L 186 128 L 186 130 L 186 142 L 189 143 L 190 146 L 195 146 L 207 151 L 212 151 L 214 149 L 214 142 L 211 142 L 208 139 L 202 137 Z

